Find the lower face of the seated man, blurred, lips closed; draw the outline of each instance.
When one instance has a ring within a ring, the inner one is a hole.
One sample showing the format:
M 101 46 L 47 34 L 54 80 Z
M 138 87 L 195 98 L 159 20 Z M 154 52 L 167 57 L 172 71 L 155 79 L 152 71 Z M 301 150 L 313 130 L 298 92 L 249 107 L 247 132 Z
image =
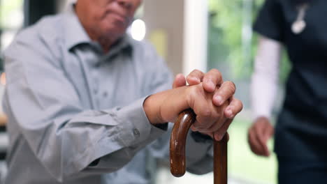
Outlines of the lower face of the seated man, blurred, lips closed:
M 120 38 L 142 0 L 78 0 L 76 14 L 92 40 Z

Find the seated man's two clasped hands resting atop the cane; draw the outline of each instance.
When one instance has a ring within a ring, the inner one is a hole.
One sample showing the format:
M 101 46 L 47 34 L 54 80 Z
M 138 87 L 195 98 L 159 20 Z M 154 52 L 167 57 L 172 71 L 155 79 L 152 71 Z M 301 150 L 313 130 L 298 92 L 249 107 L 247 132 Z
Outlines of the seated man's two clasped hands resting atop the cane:
M 242 102 L 233 97 L 234 93 L 233 82 L 224 82 L 218 70 L 194 70 L 186 78 L 177 75 L 173 89 L 150 95 L 143 107 L 152 124 L 175 122 L 180 112 L 193 109 L 196 122 L 191 130 L 219 141 L 242 110 Z

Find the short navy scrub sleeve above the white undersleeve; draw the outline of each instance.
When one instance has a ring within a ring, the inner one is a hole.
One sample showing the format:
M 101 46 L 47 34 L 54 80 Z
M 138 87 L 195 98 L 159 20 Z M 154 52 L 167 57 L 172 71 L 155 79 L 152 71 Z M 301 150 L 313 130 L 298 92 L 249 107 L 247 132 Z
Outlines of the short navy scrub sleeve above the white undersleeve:
M 254 31 L 270 39 L 284 42 L 284 13 L 279 0 L 266 0 L 254 23 Z

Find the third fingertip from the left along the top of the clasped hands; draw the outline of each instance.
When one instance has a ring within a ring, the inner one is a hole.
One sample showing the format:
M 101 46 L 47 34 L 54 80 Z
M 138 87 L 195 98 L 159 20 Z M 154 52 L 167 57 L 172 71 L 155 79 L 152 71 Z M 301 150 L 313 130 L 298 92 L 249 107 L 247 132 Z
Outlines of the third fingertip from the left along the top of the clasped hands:
M 216 86 L 220 86 L 223 82 L 221 72 L 217 69 L 212 69 L 207 72 L 203 77 L 203 88 L 207 92 L 213 92 Z

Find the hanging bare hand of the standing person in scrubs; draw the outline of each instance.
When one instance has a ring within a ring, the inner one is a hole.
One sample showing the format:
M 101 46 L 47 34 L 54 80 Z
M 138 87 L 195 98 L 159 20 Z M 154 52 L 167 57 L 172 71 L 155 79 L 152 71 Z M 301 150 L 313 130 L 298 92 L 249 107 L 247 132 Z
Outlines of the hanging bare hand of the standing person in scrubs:
M 257 118 L 249 128 L 247 137 L 252 152 L 256 155 L 268 157 L 270 151 L 268 150 L 267 141 L 273 136 L 273 134 L 274 128 L 273 125 L 270 124 L 268 118 Z

